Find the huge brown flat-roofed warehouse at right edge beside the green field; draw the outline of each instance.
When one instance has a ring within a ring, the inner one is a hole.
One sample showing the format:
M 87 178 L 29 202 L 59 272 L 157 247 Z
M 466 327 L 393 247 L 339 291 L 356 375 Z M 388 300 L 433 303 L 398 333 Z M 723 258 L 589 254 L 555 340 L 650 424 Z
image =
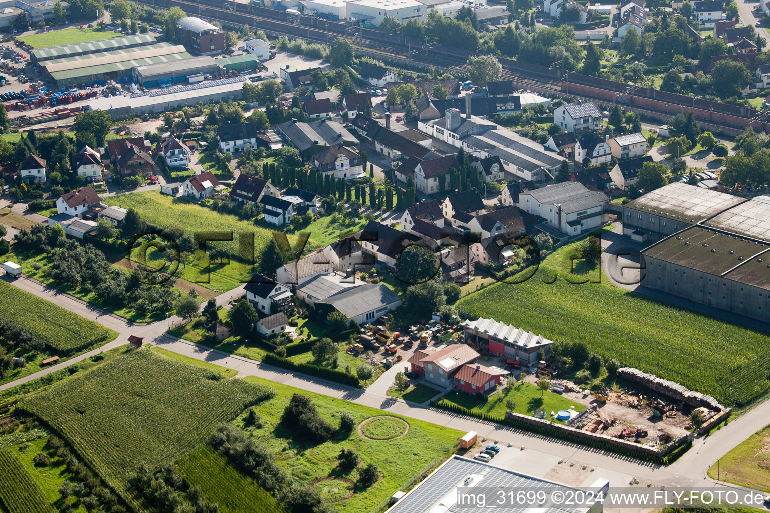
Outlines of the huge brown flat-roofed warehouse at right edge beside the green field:
M 768 238 L 770 197 L 743 202 L 644 249 L 642 285 L 770 321 Z

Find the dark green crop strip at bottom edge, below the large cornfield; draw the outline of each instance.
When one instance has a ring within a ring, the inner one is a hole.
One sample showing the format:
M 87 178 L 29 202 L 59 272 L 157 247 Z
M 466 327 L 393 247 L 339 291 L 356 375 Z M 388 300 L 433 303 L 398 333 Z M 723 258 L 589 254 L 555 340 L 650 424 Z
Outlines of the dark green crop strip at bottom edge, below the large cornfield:
M 192 451 L 177 464 L 190 486 L 198 486 L 222 513 L 282 513 L 275 498 L 243 477 L 223 456 L 208 446 Z

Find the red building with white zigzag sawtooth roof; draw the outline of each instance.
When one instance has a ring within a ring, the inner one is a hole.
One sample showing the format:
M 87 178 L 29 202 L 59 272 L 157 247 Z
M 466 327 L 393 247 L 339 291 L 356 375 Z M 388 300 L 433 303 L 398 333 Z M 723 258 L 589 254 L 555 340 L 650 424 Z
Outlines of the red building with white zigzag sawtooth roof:
M 463 323 L 465 341 L 472 341 L 482 350 L 489 351 L 509 363 L 521 361 L 525 366 L 537 365 L 549 352 L 554 342 L 493 318 L 477 318 Z

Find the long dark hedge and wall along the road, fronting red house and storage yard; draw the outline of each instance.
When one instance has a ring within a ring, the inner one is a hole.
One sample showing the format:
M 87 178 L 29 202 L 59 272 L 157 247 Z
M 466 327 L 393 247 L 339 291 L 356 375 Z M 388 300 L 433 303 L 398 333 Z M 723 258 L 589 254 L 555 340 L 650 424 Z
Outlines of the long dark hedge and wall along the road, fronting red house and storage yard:
M 621 456 L 628 456 L 629 458 L 636 458 L 642 461 L 648 461 L 655 464 L 667 465 L 668 462 L 673 462 L 679 458 L 682 454 L 688 451 L 692 447 L 692 441 L 688 440 L 685 444 L 679 446 L 674 451 L 671 451 L 669 455 L 653 455 L 644 451 L 636 451 L 633 448 L 618 447 L 611 444 L 609 441 L 594 440 L 592 438 L 584 438 L 577 433 L 565 432 L 557 429 L 550 428 L 547 425 L 532 425 L 527 422 L 519 421 L 516 418 L 506 418 L 503 415 L 490 415 L 484 413 L 484 411 L 474 411 L 465 408 L 464 406 L 455 405 L 440 399 L 439 401 L 430 401 L 431 406 L 440 408 L 454 413 L 460 413 L 469 417 L 480 418 L 483 421 L 496 422 L 497 424 L 507 425 L 511 428 L 521 429 L 522 431 L 529 431 L 536 433 L 537 435 L 545 435 L 549 438 L 557 438 L 559 440 L 572 442 L 578 445 L 584 445 L 585 447 L 598 449 L 600 451 L 607 451 Z

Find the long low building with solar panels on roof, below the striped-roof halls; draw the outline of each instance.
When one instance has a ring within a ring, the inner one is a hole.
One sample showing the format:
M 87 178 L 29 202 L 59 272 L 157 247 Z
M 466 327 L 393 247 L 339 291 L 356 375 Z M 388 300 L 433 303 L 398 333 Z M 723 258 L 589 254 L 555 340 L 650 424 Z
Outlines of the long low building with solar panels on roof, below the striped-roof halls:
M 239 100 L 243 94 L 243 84 L 249 79 L 243 76 L 206 80 L 196 84 L 159 89 L 136 95 L 115 98 L 95 98 L 89 102 L 92 111 L 102 110 L 112 118 L 124 115 L 145 115 L 153 112 L 179 110 L 186 105 L 196 103 L 226 102 Z

